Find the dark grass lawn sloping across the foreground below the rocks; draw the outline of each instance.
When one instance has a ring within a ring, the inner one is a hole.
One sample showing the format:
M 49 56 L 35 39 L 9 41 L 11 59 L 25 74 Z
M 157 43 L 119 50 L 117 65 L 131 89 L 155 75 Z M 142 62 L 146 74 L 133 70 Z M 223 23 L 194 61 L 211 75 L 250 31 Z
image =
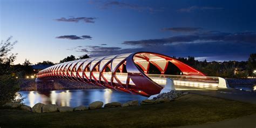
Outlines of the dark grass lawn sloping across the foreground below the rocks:
M 0 110 L 0 127 L 165 127 L 218 122 L 253 113 L 253 104 L 188 94 L 164 104 L 79 112 Z

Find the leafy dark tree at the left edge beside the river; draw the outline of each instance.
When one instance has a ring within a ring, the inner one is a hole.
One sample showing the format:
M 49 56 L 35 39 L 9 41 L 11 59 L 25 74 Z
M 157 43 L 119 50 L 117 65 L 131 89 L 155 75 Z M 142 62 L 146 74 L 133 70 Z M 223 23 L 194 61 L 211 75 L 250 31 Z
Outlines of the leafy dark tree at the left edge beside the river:
M 10 52 L 17 41 L 11 42 L 11 39 L 12 36 L 0 43 L 0 104 L 21 101 L 16 99 L 19 82 L 15 78 L 16 73 L 11 65 L 17 54 Z

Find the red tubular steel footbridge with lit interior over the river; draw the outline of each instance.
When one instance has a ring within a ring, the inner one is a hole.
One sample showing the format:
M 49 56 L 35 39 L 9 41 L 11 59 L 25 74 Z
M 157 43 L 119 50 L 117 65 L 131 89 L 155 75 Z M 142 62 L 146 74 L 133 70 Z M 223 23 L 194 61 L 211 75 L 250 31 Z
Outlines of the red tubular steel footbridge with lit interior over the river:
M 166 85 L 166 78 L 172 79 L 175 86 L 228 86 L 223 78 L 207 77 L 177 59 L 153 52 L 125 53 L 60 63 L 39 71 L 36 82 L 57 78 L 147 97 L 160 93 Z

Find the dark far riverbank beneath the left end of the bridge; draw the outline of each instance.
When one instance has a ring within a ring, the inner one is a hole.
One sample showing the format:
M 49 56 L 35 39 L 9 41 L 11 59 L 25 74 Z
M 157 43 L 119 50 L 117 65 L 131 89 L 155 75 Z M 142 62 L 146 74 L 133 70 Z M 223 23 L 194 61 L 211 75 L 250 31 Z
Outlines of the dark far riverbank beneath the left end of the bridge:
M 63 89 L 102 89 L 100 86 L 55 79 L 54 82 L 35 82 L 35 79 L 20 79 L 20 91 L 63 90 Z

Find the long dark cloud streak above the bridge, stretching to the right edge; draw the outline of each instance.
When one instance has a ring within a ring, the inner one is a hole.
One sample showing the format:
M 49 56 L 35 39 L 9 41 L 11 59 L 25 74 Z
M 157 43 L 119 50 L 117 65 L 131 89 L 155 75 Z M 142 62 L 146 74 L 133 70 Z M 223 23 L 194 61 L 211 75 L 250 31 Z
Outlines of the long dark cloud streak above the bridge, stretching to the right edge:
M 239 43 L 254 43 L 256 44 L 255 32 L 244 33 L 226 33 L 217 31 L 207 31 L 193 33 L 192 35 L 172 36 L 161 39 L 143 39 L 139 41 L 125 41 L 126 45 L 137 46 L 158 46 L 158 45 L 176 45 L 187 43 L 207 43 L 207 42 L 239 42 Z

